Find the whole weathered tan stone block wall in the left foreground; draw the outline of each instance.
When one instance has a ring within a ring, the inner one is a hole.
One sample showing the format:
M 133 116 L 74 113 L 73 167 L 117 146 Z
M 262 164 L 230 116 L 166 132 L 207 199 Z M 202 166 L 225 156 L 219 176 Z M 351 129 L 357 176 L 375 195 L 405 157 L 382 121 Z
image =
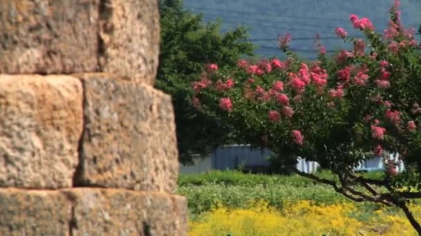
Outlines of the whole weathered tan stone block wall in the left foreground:
M 0 235 L 187 235 L 157 0 L 0 1 Z

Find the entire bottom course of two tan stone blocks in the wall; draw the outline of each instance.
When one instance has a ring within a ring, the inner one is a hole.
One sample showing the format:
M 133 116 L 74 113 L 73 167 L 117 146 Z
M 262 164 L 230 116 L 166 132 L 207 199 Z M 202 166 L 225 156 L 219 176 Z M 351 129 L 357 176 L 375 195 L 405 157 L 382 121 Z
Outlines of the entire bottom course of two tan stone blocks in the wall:
M 0 235 L 187 235 L 184 197 L 105 188 L 0 188 Z

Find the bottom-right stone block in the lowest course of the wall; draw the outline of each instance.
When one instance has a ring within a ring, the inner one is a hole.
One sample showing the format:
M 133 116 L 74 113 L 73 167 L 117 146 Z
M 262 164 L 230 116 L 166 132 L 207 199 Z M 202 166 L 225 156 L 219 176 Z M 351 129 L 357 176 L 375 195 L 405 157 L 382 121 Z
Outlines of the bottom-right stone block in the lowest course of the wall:
M 120 189 L 70 190 L 73 235 L 187 235 L 184 197 Z

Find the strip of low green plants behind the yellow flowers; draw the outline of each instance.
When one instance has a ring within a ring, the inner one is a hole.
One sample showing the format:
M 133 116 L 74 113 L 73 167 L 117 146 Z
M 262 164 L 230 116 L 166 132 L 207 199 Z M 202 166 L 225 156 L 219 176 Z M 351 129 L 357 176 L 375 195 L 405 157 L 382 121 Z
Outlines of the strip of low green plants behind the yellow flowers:
M 333 179 L 328 171 L 316 173 L 319 177 Z M 379 178 L 382 173 L 365 173 L 365 177 Z M 334 204 L 348 201 L 324 184 L 298 175 L 254 175 L 238 171 L 212 171 L 197 175 L 180 175 L 177 193 L 188 199 L 190 217 L 200 215 L 217 204 L 229 208 L 247 208 L 253 200 L 267 200 L 271 206 L 283 208 L 295 201 L 312 200 L 316 204 Z M 373 210 L 378 206 L 362 204 L 361 208 Z M 361 215 L 355 213 L 355 215 Z

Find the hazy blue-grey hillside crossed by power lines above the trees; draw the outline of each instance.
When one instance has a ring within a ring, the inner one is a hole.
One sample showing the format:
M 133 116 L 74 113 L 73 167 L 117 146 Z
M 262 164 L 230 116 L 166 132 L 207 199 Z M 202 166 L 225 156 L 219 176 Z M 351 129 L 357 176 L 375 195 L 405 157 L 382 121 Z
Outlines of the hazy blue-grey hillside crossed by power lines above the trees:
M 261 55 L 282 56 L 277 49 L 278 34 L 291 33 L 292 48 L 312 59 L 314 35 L 319 33 L 328 52 L 343 46 L 336 39 L 334 29 L 343 27 L 350 35 L 360 35 L 352 30 L 348 17 L 357 14 L 369 17 L 377 32 L 387 26 L 388 9 L 393 0 L 184 0 L 192 12 L 203 12 L 205 21 L 222 19 L 223 30 L 238 25 L 250 26 L 250 39 L 260 46 Z M 402 21 L 406 27 L 418 30 L 421 24 L 421 1 L 401 0 Z M 327 39 L 326 39 L 327 38 Z M 418 39 L 420 39 L 418 35 Z M 295 39 L 295 40 L 294 40 Z

